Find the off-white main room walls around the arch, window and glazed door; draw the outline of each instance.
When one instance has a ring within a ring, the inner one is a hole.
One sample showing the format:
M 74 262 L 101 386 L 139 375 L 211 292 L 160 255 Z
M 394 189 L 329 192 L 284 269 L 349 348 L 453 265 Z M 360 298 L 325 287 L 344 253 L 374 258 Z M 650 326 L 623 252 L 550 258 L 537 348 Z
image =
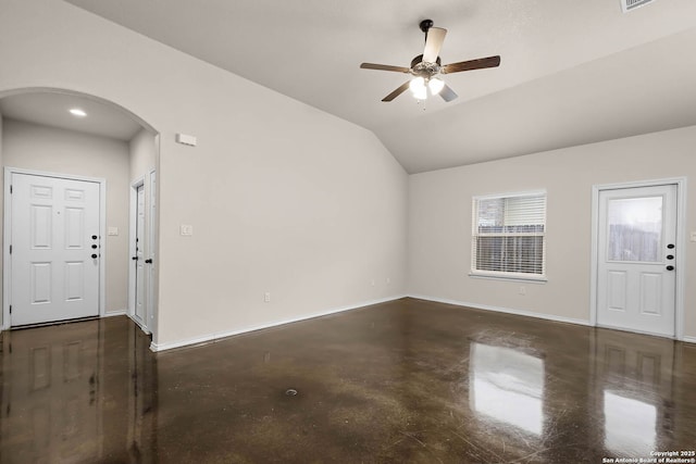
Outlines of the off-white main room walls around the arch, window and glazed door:
M 409 179 L 368 130 L 70 4 L 0 0 L 0 97 L 82 91 L 160 133 L 160 347 L 401 294 L 407 229 L 411 293 L 587 321 L 592 185 L 696 175 L 692 127 Z M 522 297 L 519 284 L 469 278 L 471 197 L 537 188 L 549 281 Z M 691 286 L 692 337 L 695 303 Z

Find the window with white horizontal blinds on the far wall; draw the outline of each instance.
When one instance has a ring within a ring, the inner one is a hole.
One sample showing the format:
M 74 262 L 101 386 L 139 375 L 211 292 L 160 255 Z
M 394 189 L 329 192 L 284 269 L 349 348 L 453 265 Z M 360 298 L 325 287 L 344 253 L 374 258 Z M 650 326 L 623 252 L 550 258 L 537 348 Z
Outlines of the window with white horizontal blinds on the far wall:
M 544 279 L 546 192 L 474 197 L 472 275 Z

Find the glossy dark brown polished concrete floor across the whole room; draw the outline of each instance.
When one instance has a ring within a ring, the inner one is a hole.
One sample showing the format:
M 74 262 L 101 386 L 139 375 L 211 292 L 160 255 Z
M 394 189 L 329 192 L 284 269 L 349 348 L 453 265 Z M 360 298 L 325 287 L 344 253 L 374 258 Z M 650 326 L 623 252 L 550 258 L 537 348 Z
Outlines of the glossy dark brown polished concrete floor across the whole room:
M 158 354 L 125 317 L 1 337 L 2 463 L 602 463 L 696 449 L 696 346 L 655 337 L 413 299 Z

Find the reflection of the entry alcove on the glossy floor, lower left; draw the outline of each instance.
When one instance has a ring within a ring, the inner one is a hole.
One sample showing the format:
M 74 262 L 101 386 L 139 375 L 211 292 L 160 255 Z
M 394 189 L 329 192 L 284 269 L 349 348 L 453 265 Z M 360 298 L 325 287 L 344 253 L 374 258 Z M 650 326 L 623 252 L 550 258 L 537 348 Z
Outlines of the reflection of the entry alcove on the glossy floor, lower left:
M 0 461 L 139 462 L 148 343 L 125 318 L 3 333 Z

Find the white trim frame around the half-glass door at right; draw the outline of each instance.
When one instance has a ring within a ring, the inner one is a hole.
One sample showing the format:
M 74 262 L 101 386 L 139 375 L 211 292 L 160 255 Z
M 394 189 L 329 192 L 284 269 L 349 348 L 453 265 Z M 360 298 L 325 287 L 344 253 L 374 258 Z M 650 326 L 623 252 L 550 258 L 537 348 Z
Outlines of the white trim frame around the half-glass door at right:
M 599 278 L 599 192 L 663 185 L 676 186 L 676 253 L 678 273 L 674 283 L 674 339 L 684 339 L 684 289 L 686 284 L 686 177 L 601 184 L 592 187 L 592 258 L 589 277 L 589 325 L 597 327 L 597 279 Z

